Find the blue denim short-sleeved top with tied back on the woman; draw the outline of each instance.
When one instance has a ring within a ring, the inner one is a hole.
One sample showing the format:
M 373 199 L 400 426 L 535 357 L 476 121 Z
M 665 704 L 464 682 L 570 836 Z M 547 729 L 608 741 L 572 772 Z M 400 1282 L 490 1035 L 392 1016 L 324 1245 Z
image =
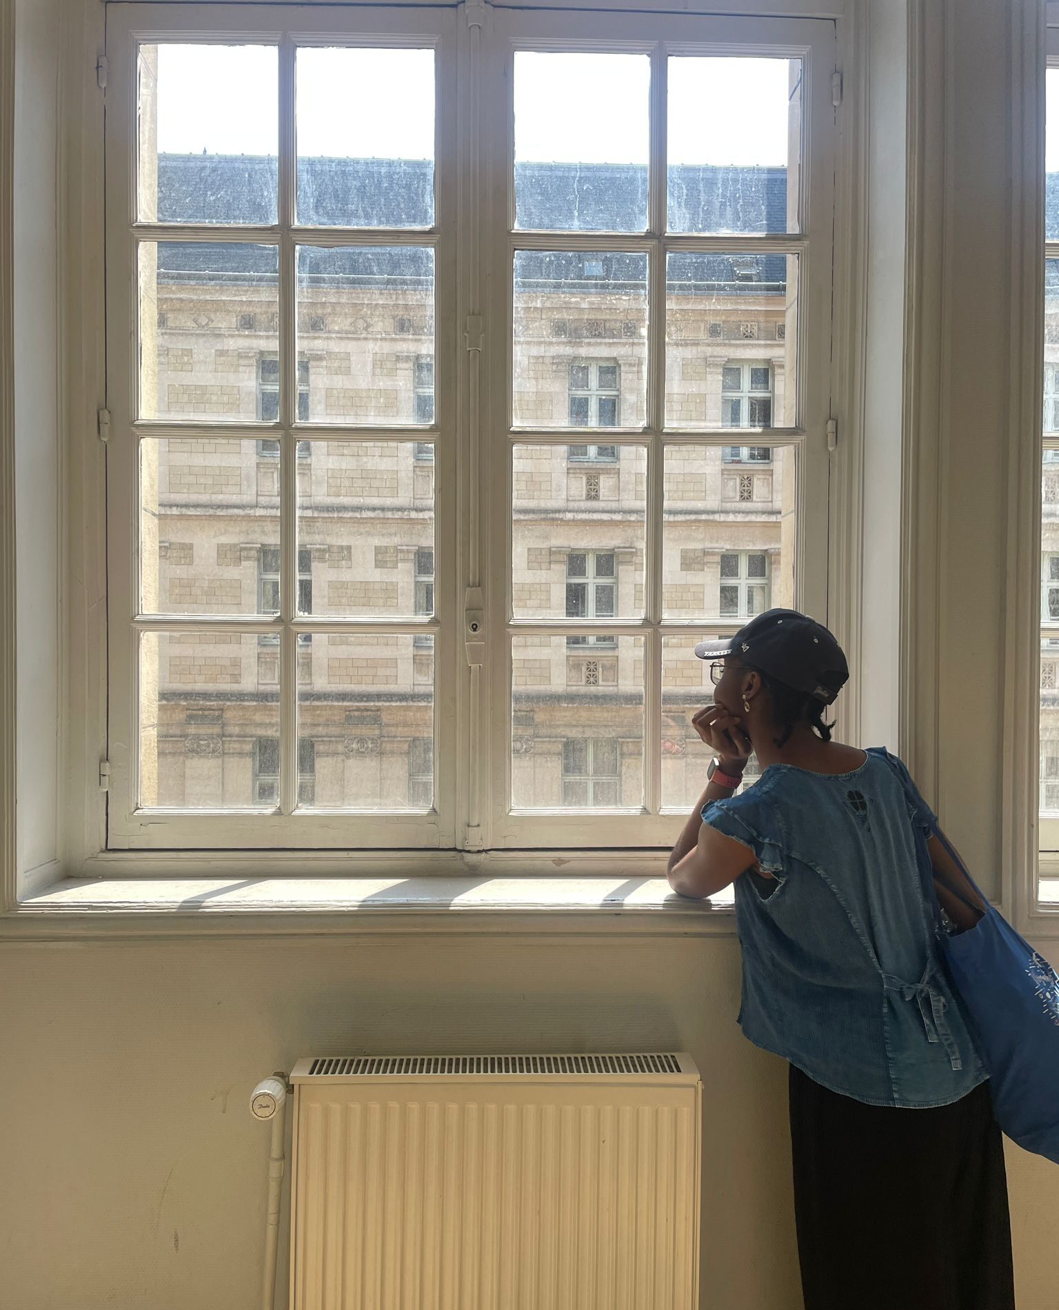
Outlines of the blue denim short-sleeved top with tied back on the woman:
M 746 1036 L 856 1100 L 945 1106 L 986 1070 L 917 859 L 933 816 L 902 778 L 882 749 L 836 776 L 773 764 L 703 821 L 773 874 L 735 882 Z

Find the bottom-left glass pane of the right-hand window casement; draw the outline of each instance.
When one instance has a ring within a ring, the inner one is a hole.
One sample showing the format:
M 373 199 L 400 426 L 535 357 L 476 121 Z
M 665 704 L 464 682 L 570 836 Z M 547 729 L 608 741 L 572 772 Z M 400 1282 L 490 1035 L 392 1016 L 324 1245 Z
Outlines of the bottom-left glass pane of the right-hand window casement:
M 511 641 L 511 802 L 516 808 L 644 803 L 644 639 L 609 648 Z

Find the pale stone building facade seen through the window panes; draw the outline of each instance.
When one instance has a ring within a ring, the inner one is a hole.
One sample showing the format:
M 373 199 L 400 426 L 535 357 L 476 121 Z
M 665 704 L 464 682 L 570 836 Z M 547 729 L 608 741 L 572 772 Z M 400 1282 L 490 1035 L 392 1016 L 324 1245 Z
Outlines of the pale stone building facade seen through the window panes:
M 163 157 L 160 207 L 172 221 L 180 195 L 166 199 L 166 177 L 178 190 L 183 161 L 169 165 Z M 239 185 L 253 191 L 242 165 L 225 185 L 229 198 Z M 747 187 L 775 203 L 775 186 L 754 177 Z M 512 617 L 637 620 L 649 561 L 647 457 L 636 440 L 647 413 L 646 257 L 523 258 L 514 421 L 547 430 L 549 444 L 516 439 L 512 449 Z M 689 719 L 710 696 L 695 641 L 712 622 L 793 600 L 796 461 L 758 430 L 794 422 L 797 267 L 772 255 L 680 259 L 667 276 L 674 440 L 663 472 L 661 605 L 663 617 L 696 627 L 663 643 L 661 743 L 644 741 L 644 638 L 598 630 L 512 638 L 520 808 L 637 807 L 645 751 L 662 752 L 663 803 L 689 804 L 704 762 Z M 425 430 L 425 440 L 393 441 L 313 439 L 307 430 L 296 456 L 303 613 L 385 621 L 433 612 L 435 536 L 450 531 L 434 516 L 433 275 L 426 246 L 305 248 L 298 257 L 299 422 Z M 173 424 L 277 421 L 275 248 L 148 246 L 140 278 L 142 415 Z M 730 428 L 730 444 L 680 440 L 682 427 L 704 426 Z M 571 427 L 577 441 L 562 438 Z M 275 440 L 245 434 L 144 440 L 144 612 L 278 612 L 279 462 Z M 277 803 L 279 660 L 274 633 L 144 638 L 144 804 Z M 296 683 L 303 804 L 431 804 L 429 634 L 303 634 Z

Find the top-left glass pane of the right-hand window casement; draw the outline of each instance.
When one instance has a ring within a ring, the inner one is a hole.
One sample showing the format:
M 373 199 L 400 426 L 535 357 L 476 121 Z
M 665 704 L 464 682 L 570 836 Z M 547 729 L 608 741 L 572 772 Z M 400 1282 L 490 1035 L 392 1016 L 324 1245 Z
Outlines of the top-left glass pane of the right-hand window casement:
M 646 55 L 515 52 L 516 227 L 646 228 L 649 89 Z

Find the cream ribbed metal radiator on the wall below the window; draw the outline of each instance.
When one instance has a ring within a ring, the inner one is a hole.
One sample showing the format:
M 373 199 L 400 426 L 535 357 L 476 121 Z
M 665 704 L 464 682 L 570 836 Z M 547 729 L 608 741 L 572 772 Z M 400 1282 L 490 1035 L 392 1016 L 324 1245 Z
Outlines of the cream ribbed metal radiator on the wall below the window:
M 292 1310 L 693 1310 L 684 1055 L 301 1060 Z

